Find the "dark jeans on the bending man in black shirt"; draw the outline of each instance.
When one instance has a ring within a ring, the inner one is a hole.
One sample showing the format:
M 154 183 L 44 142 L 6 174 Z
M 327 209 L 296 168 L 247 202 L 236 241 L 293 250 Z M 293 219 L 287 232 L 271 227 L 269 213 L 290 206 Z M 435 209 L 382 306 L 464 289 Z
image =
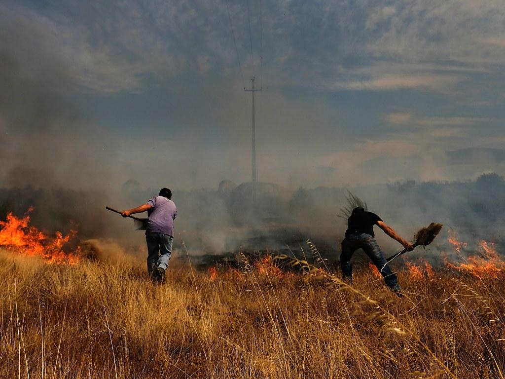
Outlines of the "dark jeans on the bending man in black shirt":
M 379 272 L 381 272 L 388 287 L 392 289 L 398 287 L 396 274 L 394 274 L 387 265 L 386 258 L 384 258 L 384 254 L 382 254 L 375 238 L 367 233 L 350 234 L 342 241 L 340 264 L 342 266 L 342 278 L 344 280 L 352 281 L 352 263 L 350 258 L 358 249 L 363 249 L 365 251 Z

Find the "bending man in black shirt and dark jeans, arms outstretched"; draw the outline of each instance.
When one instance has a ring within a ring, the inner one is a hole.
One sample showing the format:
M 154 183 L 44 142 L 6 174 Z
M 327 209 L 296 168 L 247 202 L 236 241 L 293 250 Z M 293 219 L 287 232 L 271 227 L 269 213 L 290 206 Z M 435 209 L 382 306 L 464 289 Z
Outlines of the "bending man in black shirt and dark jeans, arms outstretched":
M 411 243 L 403 240 L 398 233 L 386 225 L 375 213 L 367 212 L 361 207 L 355 208 L 348 219 L 347 231 L 342 241 L 342 254 L 340 255 L 342 277 L 345 281 L 352 282 L 352 263 L 350 258 L 356 250 L 361 248 L 381 272 L 386 285 L 393 291 L 399 292 L 401 288 L 398 284 L 398 279 L 387 265 L 386 258 L 384 258 L 384 254 L 382 254 L 377 241 L 375 241 L 374 225 L 379 226 L 387 235 L 393 240 L 398 241 L 408 251 L 414 249 Z

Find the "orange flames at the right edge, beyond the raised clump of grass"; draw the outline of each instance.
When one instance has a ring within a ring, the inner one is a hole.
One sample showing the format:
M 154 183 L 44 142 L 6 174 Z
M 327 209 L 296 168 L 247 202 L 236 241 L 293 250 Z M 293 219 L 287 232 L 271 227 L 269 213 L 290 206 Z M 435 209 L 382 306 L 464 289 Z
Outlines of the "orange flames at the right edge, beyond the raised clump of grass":
M 445 265 L 460 272 L 470 273 L 480 279 L 484 277 L 498 278 L 503 275 L 505 262 L 498 256 L 494 244 L 480 241 L 479 247 L 480 255 L 468 257 L 467 263 L 453 264 L 444 258 Z

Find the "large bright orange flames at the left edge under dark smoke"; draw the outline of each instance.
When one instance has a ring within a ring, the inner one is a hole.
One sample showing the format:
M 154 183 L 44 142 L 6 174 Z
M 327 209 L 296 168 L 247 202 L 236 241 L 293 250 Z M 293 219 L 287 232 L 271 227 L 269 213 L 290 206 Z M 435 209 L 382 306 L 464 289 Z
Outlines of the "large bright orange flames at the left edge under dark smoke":
M 30 208 L 28 213 L 31 211 Z M 63 251 L 63 245 L 75 238 L 75 230 L 71 230 L 67 235 L 57 231 L 55 237 L 50 239 L 36 227 L 29 226 L 29 223 L 30 216 L 28 214 L 23 218 L 18 218 L 9 213 L 6 221 L 0 221 L 0 246 L 28 255 L 38 255 L 51 263 L 73 265 L 79 261 L 77 255 Z M 80 248 L 76 253 L 79 251 Z

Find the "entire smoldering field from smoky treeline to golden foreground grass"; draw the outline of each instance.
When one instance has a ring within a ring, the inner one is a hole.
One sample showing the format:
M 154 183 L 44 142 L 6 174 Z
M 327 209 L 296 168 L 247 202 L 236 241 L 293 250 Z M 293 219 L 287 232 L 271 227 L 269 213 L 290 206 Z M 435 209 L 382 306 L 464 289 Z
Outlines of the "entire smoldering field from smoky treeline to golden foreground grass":
M 129 183 L 123 198 L 5 189 L 4 212 L 21 215 L 33 206 L 31 221 L 47 233 L 77 225 L 98 254 L 62 265 L 1 251 L 0 376 L 503 377 L 502 261 L 478 276 L 442 264 L 442 255 L 455 263 L 484 256 L 481 240 L 500 253 L 503 187 L 501 177 L 483 175 L 352 188 L 403 235 L 430 221 L 445 225 L 432 246 L 394 262 L 402 299 L 359 253 L 354 285 L 340 282 L 344 188 L 286 193 L 268 185 L 254 214 L 240 208 L 247 207 L 239 196 L 247 196 L 247 185 L 174 193 L 179 245 L 162 286 L 146 277 L 141 232 L 103 209 L 120 207 L 111 199 L 134 206 L 154 189 Z M 449 229 L 460 253 L 447 242 Z M 396 251 L 382 242 L 386 255 Z M 292 252 L 310 266 L 280 269 L 269 258 L 239 254 L 251 250 Z M 216 263 L 225 252 L 237 253 L 239 263 Z

